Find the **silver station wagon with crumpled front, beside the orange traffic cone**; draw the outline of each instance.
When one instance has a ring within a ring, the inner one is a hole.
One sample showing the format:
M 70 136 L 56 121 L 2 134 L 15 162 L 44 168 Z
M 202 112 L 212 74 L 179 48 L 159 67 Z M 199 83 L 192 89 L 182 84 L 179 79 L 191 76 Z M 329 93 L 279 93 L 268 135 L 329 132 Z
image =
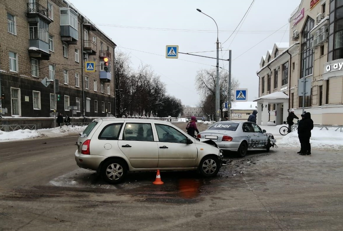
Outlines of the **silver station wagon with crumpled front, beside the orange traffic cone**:
M 213 141 L 200 142 L 158 120 L 95 119 L 80 133 L 76 145 L 76 164 L 96 170 L 111 184 L 124 180 L 128 171 L 157 169 L 199 170 L 203 176 L 213 177 L 223 161 Z

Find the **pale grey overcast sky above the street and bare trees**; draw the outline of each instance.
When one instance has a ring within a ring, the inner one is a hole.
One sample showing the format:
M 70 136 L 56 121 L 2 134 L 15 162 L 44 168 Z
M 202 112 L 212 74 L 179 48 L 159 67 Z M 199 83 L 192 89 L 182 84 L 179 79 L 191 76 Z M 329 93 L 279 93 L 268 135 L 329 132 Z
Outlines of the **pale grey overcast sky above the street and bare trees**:
M 261 57 L 275 42 L 288 42 L 288 19 L 300 4 L 300 0 L 255 0 L 238 33 L 232 34 L 252 0 L 70 2 L 117 44 L 117 50 L 129 54 L 133 69 L 141 63 L 151 65 L 166 84 L 168 94 L 190 106 L 196 106 L 201 98 L 195 88 L 197 71 L 215 68 L 216 60 L 187 54 L 166 59 L 165 49 L 166 45 L 179 45 L 180 52 L 213 51 L 198 54 L 216 57 L 216 25 L 197 8 L 216 21 L 223 50 L 219 56 L 228 59 L 225 50 L 232 50 L 232 76 L 239 80 L 240 88 L 248 88 L 248 100 L 252 101 L 258 97 L 256 71 Z M 220 60 L 219 65 L 228 70 L 227 61 Z

